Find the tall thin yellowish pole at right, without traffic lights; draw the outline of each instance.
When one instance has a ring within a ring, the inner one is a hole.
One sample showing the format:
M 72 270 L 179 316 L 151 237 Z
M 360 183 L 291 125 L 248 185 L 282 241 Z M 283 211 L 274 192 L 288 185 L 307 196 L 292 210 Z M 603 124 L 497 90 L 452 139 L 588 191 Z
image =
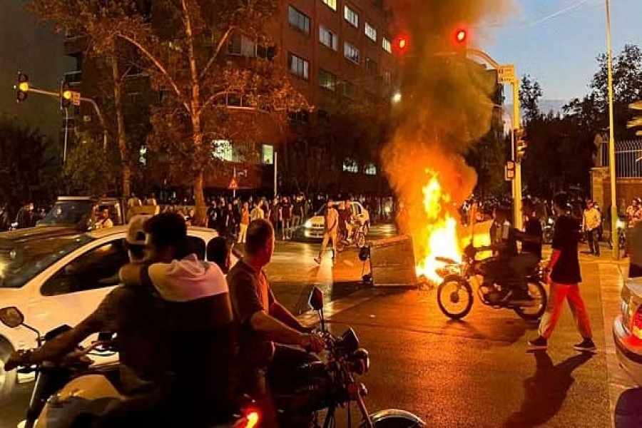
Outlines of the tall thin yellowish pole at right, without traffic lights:
M 613 260 L 620 258 L 618 245 L 618 200 L 616 197 L 615 129 L 613 127 L 613 48 L 611 46 L 611 4 L 606 0 L 606 68 L 608 68 L 608 175 L 611 178 L 611 241 Z

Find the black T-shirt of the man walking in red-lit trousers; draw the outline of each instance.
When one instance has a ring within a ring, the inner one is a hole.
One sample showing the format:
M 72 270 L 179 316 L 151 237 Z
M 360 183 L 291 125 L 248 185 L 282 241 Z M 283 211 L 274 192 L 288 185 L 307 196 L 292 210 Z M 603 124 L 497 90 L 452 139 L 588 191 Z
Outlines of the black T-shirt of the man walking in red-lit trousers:
M 561 215 L 555 222 L 553 249 L 561 251 L 559 260 L 551 272 L 551 280 L 560 284 L 581 282 L 577 244 L 579 241 L 580 223 L 576 218 Z

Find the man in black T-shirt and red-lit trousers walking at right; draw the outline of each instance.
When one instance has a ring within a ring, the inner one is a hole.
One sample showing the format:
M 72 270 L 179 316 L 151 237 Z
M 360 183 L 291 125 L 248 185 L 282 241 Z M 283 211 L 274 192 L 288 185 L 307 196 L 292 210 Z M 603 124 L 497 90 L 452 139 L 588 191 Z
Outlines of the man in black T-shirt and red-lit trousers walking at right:
M 569 214 L 569 198 L 566 193 L 555 196 L 553 209 L 558 218 L 553 236 L 553 253 L 546 267 L 550 272 L 551 295 L 539 324 L 539 337 L 529 340 L 529 350 L 546 350 L 549 337 L 559 321 L 564 300 L 569 300 L 571 312 L 583 339 L 574 345 L 574 348 L 582 352 L 595 352 L 591 322 L 588 320 L 588 312 L 579 292 L 579 282 L 582 280 L 577 254 L 579 221 Z

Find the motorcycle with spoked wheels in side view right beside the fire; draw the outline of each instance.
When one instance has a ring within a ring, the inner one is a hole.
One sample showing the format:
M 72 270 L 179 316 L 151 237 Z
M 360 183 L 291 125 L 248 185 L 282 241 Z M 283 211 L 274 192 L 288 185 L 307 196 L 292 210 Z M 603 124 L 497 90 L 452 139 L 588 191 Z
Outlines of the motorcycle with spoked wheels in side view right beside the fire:
M 546 289 L 544 288 L 544 270 L 537 266 L 534 272 L 526 278 L 529 295 L 532 300 L 511 300 L 509 290 L 516 287 L 516 283 L 501 284 L 494 282 L 492 285 L 479 283 L 478 277 L 484 277 L 484 260 L 475 260 L 475 250 L 469 246 L 464 250 L 462 263 L 452 259 L 437 258 L 444 267 L 437 270 L 443 278 L 437 288 L 437 304 L 439 309 L 452 320 L 461 320 L 468 315 L 473 304 L 473 289 L 471 282 L 476 282 L 477 295 L 484 305 L 494 309 L 506 308 L 514 310 L 524 320 L 539 320 L 546 310 Z M 454 305 L 453 308 L 450 305 Z

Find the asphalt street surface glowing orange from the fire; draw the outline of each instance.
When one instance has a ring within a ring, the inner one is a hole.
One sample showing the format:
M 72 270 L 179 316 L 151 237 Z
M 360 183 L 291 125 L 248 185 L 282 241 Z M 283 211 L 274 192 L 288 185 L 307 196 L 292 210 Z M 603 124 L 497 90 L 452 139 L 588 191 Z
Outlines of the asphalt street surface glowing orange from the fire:
M 371 239 L 391 235 L 373 228 Z M 608 345 L 609 313 L 618 303 L 621 280 L 604 251 L 600 259 L 581 255 L 586 299 L 599 352 L 582 355 L 568 310 L 549 342 L 548 352 L 526 352 L 536 335 L 514 312 L 492 310 L 476 301 L 462 322 L 444 317 L 436 290 L 365 287 L 356 250 L 342 253 L 334 267 L 328 257 L 317 265 L 317 243 L 277 243 L 267 270 L 277 298 L 297 314 L 307 310 L 313 285 L 325 292 L 330 328 L 347 326 L 370 352 L 370 372 L 362 377 L 371 412 L 407 409 L 430 427 L 609 427 L 613 407 L 628 378 L 613 362 Z M 610 308 L 610 309 L 609 309 Z M 307 312 L 306 322 L 315 320 Z M 30 385 L 0 408 L 0 427 L 22 419 Z M 356 408 L 353 409 L 353 415 Z

